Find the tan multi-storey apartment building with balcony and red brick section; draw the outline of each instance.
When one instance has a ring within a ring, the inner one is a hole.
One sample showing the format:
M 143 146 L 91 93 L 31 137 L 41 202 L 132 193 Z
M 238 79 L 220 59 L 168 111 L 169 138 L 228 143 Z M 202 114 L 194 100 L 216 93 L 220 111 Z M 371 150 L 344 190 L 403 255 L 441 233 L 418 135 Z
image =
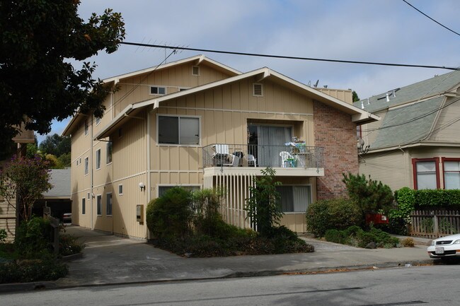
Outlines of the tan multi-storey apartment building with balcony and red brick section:
M 357 124 L 378 119 L 352 105 L 350 90 L 328 95 L 203 56 L 104 82 L 119 88 L 105 116 L 77 114 L 64 131 L 72 223 L 142 239 L 146 204 L 176 185 L 224 187 L 224 218 L 248 227 L 248 186 L 268 166 L 283 183 L 282 223 L 305 232 L 309 203 L 345 194 L 342 173 L 358 170 Z

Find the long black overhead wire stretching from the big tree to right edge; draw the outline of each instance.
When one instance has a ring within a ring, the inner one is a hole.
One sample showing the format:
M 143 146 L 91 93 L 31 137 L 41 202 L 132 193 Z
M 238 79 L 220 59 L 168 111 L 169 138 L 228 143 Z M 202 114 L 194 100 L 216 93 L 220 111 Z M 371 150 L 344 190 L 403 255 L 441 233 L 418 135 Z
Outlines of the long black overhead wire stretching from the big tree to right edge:
M 139 46 L 139 47 L 181 49 L 181 50 L 198 51 L 198 52 L 212 52 L 212 53 L 220 53 L 220 54 L 246 55 L 248 57 L 271 57 L 271 58 L 274 58 L 274 59 L 301 59 L 301 60 L 304 60 L 304 61 L 330 61 L 330 62 L 333 62 L 333 63 L 346 63 L 346 64 L 366 64 L 366 65 L 379 65 L 379 66 L 399 66 L 399 67 L 415 67 L 415 68 L 433 68 L 433 69 L 459 70 L 456 67 L 446 67 L 446 66 L 393 64 L 393 63 L 379 63 L 379 62 L 375 62 L 375 61 L 346 61 L 346 60 L 342 60 L 342 59 L 317 59 L 317 58 L 314 58 L 314 57 L 288 57 L 286 55 L 232 52 L 232 51 L 222 51 L 222 50 L 212 50 L 212 49 L 198 49 L 198 48 L 177 47 L 177 46 L 167 46 L 167 45 L 149 45 L 149 44 L 141 44 L 139 42 L 120 42 L 120 44 L 122 44 L 122 45 L 130 45 L 130 46 Z

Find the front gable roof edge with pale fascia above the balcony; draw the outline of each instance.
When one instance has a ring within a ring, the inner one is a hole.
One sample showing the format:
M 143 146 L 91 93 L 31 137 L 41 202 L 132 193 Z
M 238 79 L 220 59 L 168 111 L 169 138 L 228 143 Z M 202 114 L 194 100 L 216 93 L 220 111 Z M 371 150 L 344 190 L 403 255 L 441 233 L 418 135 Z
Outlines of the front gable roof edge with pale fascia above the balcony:
M 120 114 L 117 114 L 117 116 L 112 120 L 112 122 L 105 126 L 98 134 L 96 134 L 94 136 L 94 139 L 103 139 L 105 137 L 108 137 L 115 129 L 117 129 L 121 124 L 123 124 L 125 120 L 129 119 L 128 115 L 134 115 L 144 107 L 152 107 L 153 110 L 155 110 L 160 106 L 161 102 L 180 98 L 186 95 L 192 95 L 202 90 L 216 88 L 218 86 L 224 86 L 229 83 L 241 81 L 245 78 L 251 78 L 253 80 L 255 79 L 257 80 L 257 82 L 263 81 L 264 79 L 270 79 L 271 81 L 280 83 L 284 87 L 296 90 L 297 92 L 304 95 L 309 95 L 314 100 L 318 100 L 319 102 L 323 102 L 324 104 L 329 105 L 330 107 L 334 107 L 335 109 L 352 115 L 353 122 L 363 124 L 366 122 L 374 122 L 376 120 L 379 120 L 379 117 L 377 117 L 376 115 L 371 114 L 365 110 L 361 110 L 359 107 L 355 107 L 353 105 L 348 104 L 347 102 L 343 102 L 342 100 L 333 98 L 330 95 L 326 95 L 326 93 L 322 93 L 321 91 L 306 86 L 305 84 L 295 81 L 292 78 L 288 78 L 287 76 L 284 76 L 281 73 L 278 73 L 277 71 L 273 71 L 271 69 L 268 69 L 267 67 L 264 67 L 247 73 L 241 73 L 238 76 L 224 78 L 220 81 L 215 81 L 202 86 L 190 88 L 188 90 L 178 91 L 176 93 L 171 93 L 170 95 L 163 95 L 161 97 L 128 105 L 127 107 L 125 107 L 125 110 L 122 110 Z

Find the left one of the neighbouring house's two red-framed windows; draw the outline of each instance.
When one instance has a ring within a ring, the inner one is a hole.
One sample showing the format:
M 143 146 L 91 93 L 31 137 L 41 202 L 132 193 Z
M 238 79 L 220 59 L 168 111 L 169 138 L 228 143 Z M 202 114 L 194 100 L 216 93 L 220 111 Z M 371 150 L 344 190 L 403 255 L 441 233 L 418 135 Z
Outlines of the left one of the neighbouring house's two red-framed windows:
M 439 188 L 439 158 L 412 160 L 414 189 Z

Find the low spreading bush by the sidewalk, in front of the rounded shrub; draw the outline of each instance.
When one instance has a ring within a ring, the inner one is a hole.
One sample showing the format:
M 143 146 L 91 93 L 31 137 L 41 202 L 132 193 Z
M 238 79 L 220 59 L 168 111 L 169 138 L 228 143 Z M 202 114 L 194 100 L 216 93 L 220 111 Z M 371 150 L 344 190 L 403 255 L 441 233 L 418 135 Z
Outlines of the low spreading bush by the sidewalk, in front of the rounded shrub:
M 369 232 L 362 230 L 358 226 L 351 226 L 346 230 L 327 230 L 324 236 L 326 241 L 351 245 L 352 247 L 366 247 L 370 242 L 374 242 L 377 247 L 397 247 L 399 240 L 391 237 L 388 233 L 377 228 L 371 228 Z

